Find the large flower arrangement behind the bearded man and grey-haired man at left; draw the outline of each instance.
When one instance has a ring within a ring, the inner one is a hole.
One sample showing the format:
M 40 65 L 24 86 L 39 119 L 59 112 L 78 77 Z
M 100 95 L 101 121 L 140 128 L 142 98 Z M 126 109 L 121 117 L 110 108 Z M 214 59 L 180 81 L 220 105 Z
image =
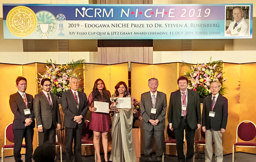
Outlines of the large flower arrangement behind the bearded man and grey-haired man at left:
M 77 76 L 79 81 L 81 80 L 81 72 L 83 69 L 81 68 L 81 65 L 83 64 L 84 59 L 79 59 L 78 61 L 67 63 L 66 66 L 63 65 L 57 65 L 56 62 L 52 63 L 52 60 L 50 59 L 50 62 L 47 61 L 47 65 L 45 66 L 46 72 L 45 74 L 40 74 L 42 78 L 36 78 L 37 82 L 41 83 L 42 79 L 49 78 L 52 82 L 52 89 L 51 92 L 57 97 L 62 96 L 62 92 L 68 91 L 70 89 L 69 87 L 69 78 L 71 76 Z M 79 72 L 79 73 L 78 73 Z M 78 73 L 78 74 L 77 74 Z M 78 91 L 82 91 L 83 86 L 79 87 Z

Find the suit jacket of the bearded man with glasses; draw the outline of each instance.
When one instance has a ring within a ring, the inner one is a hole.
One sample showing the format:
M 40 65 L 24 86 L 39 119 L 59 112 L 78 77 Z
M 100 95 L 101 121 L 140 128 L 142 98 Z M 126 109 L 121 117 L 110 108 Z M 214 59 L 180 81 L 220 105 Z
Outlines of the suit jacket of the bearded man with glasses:
M 57 123 L 61 124 L 59 104 L 57 96 L 50 93 L 52 99 L 52 107 L 43 92 L 35 95 L 34 112 L 36 117 L 36 125 L 43 125 L 43 129 L 50 129 L 52 123 L 57 128 Z

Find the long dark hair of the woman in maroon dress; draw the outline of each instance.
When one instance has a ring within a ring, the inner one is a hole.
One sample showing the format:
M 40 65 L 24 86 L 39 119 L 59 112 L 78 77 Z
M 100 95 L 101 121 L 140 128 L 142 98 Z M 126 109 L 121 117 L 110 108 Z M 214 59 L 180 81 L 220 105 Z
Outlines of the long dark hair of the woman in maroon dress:
M 93 86 L 93 89 L 92 89 L 92 97 L 93 97 L 93 100 L 94 101 L 99 101 L 101 99 L 101 95 L 100 95 L 100 92 L 97 88 L 98 86 L 98 81 L 102 81 L 103 85 L 104 85 L 104 88 L 102 90 L 103 92 L 103 98 L 104 98 L 104 102 L 107 102 L 109 103 L 110 102 L 110 96 L 109 96 L 109 93 L 106 89 L 106 86 L 105 86 L 105 83 L 103 82 L 102 79 L 97 79 L 95 82 L 94 82 L 94 86 Z

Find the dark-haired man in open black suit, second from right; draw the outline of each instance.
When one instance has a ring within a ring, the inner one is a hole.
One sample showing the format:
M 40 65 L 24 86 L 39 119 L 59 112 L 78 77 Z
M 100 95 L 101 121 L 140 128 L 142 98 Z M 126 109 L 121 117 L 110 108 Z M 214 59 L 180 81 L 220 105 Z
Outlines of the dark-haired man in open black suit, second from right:
M 172 92 L 170 97 L 168 121 L 174 130 L 179 161 L 193 161 L 195 130 L 200 128 L 201 108 L 199 93 L 187 89 L 188 78 L 178 78 L 179 90 Z M 187 140 L 187 156 L 183 151 L 184 130 Z

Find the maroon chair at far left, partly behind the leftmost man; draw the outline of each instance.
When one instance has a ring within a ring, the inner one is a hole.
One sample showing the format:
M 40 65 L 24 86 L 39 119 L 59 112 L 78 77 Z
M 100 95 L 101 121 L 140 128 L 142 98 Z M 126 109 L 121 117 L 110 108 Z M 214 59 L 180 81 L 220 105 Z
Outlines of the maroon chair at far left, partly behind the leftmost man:
M 6 144 L 6 139 L 12 142 L 12 144 Z M 11 150 L 13 148 L 14 148 L 14 136 L 12 131 L 12 123 L 10 123 L 5 127 L 5 131 L 4 131 L 4 146 L 2 147 L 2 162 L 4 161 L 4 157 L 5 157 L 4 150 Z M 22 143 L 21 148 L 26 149 L 26 144 Z

